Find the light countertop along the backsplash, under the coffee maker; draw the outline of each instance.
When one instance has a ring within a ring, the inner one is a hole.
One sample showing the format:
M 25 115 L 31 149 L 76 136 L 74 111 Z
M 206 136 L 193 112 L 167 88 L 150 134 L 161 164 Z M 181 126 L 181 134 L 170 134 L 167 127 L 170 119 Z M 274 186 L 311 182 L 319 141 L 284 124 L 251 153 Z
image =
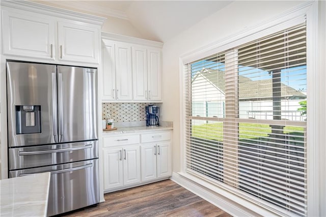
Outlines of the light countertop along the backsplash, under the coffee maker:
M 132 126 L 132 127 L 117 127 L 116 130 L 103 130 L 103 133 L 122 134 L 122 133 L 142 133 L 142 132 L 155 132 L 161 130 L 172 130 L 173 127 L 148 127 L 148 126 Z

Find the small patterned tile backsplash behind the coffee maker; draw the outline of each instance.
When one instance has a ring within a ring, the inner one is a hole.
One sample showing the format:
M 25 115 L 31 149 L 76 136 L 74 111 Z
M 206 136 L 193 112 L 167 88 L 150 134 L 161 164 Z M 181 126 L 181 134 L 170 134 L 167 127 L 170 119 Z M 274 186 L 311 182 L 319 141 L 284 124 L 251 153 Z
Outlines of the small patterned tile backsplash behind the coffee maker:
M 114 122 L 145 121 L 146 105 L 149 103 L 102 103 L 102 119 L 110 115 Z

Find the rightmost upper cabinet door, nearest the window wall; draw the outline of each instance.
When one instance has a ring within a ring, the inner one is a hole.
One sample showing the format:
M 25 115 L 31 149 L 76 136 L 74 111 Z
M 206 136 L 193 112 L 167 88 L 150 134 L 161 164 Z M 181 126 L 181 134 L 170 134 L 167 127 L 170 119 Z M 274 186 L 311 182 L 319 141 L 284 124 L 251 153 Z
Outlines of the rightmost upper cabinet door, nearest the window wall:
M 147 50 L 148 100 L 161 100 L 161 51 Z

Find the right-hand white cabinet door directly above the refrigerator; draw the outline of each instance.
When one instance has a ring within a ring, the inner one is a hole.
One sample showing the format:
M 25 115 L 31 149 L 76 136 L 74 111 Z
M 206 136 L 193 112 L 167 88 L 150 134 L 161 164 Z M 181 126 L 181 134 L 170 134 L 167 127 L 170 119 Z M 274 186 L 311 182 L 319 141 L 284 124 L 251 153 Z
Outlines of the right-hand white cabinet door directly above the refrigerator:
M 60 60 L 83 63 L 99 62 L 99 29 L 87 25 L 58 22 Z

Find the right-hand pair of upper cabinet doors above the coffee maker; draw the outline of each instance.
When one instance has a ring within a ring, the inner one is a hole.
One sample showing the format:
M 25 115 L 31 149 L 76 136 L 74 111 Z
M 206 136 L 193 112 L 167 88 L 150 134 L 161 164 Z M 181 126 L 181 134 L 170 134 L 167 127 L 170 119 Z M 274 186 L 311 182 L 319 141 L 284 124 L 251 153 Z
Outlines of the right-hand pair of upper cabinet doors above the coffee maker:
M 132 47 L 133 99 L 161 100 L 160 49 Z

